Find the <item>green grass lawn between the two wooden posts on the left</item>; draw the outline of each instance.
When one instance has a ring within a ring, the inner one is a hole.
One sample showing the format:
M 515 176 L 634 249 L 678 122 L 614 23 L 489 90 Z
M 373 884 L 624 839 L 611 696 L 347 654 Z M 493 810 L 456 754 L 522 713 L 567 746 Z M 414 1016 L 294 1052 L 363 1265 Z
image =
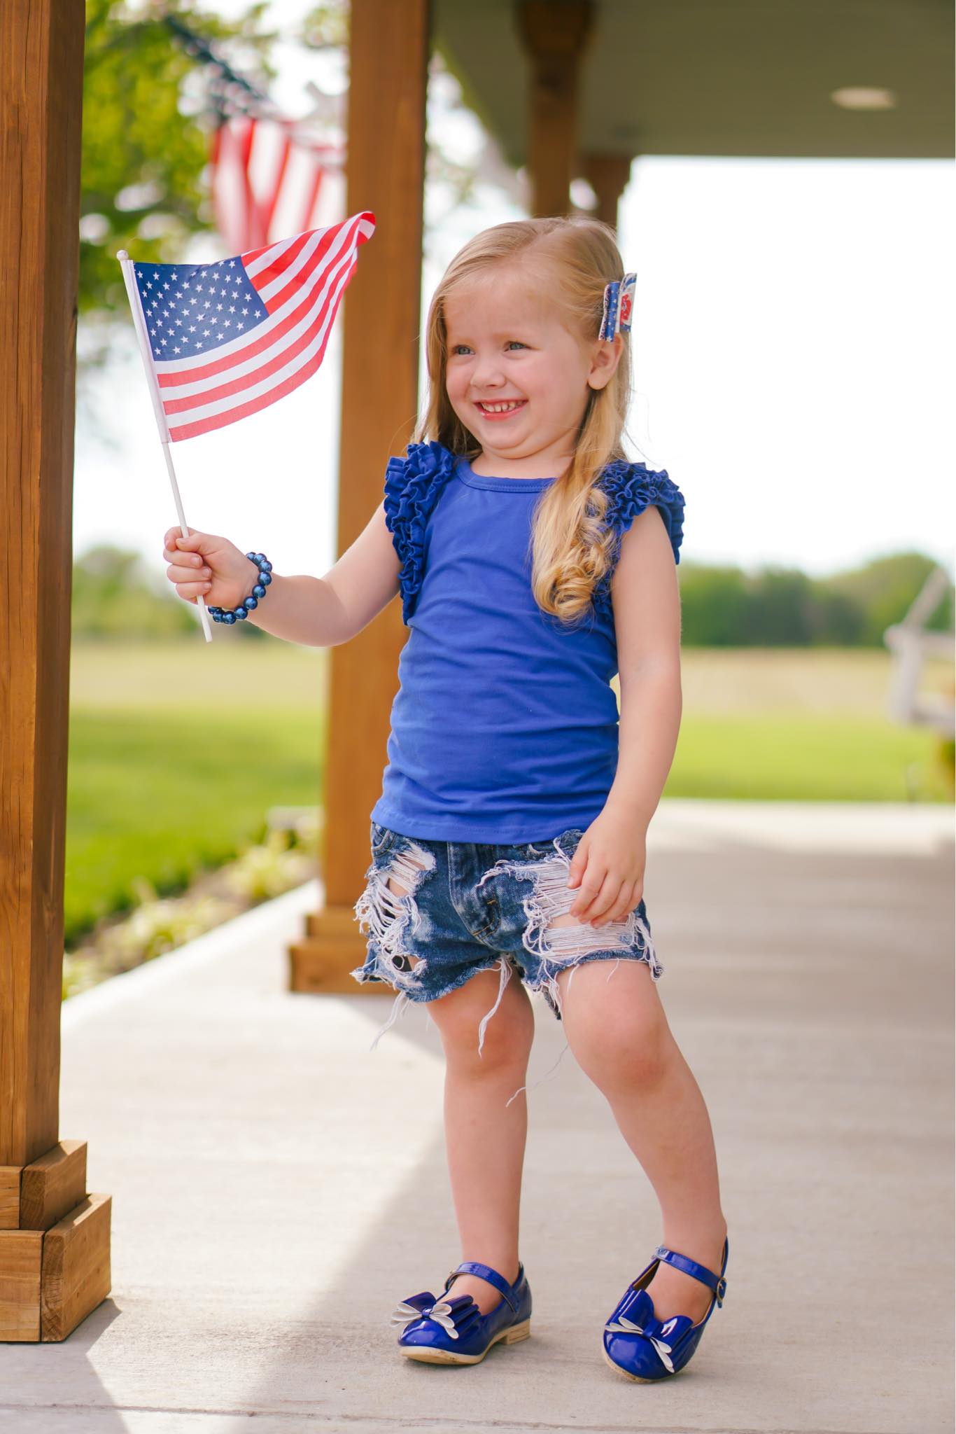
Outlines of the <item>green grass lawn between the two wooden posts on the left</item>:
M 67 949 L 132 905 L 130 879 L 181 891 L 258 840 L 271 806 L 318 802 L 324 677 L 324 654 L 277 641 L 75 644 Z

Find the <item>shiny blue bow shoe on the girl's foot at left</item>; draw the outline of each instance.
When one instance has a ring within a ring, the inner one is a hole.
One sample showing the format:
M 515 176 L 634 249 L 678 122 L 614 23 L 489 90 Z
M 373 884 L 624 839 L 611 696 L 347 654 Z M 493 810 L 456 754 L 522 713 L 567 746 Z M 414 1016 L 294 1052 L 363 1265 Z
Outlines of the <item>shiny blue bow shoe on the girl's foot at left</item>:
M 393 1325 L 403 1325 L 398 1349 L 410 1359 L 426 1364 L 477 1364 L 493 1344 L 517 1344 L 532 1332 L 532 1292 L 525 1278 L 525 1266 L 517 1266 L 513 1285 L 490 1265 L 462 1260 L 444 1282 L 444 1291 L 456 1275 L 480 1275 L 500 1289 L 499 1304 L 483 1315 L 470 1295 L 436 1299 L 430 1291 L 404 1299 L 391 1316 Z

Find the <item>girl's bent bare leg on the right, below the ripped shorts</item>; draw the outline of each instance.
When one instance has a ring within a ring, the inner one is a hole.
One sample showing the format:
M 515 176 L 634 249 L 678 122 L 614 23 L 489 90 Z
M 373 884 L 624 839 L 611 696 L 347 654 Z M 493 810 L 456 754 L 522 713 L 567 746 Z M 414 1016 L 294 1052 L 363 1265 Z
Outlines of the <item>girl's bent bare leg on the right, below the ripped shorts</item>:
M 568 1044 L 606 1096 L 659 1200 L 664 1235 L 656 1243 L 720 1275 L 727 1222 L 714 1133 L 646 962 L 589 961 L 559 972 L 558 984 Z M 652 1253 L 651 1248 L 639 1258 L 635 1275 Z M 705 1285 L 664 1260 L 646 1289 L 659 1319 L 689 1315 L 697 1322 L 712 1298 Z

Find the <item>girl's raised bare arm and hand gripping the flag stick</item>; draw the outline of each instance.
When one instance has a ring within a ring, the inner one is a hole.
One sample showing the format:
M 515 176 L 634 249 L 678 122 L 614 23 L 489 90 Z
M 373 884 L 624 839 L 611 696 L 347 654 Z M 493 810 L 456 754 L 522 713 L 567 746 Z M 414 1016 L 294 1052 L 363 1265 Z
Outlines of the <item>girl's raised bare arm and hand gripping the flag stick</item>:
M 178 528 L 166 533 L 166 576 L 181 598 L 201 594 L 214 607 L 235 607 L 258 578 L 257 565 L 226 538 Z M 398 555 L 380 503 L 363 532 L 324 578 L 272 572 L 267 597 L 252 608 L 254 622 L 274 637 L 305 647 L 337 647 L 361 632 L 398 592 Z

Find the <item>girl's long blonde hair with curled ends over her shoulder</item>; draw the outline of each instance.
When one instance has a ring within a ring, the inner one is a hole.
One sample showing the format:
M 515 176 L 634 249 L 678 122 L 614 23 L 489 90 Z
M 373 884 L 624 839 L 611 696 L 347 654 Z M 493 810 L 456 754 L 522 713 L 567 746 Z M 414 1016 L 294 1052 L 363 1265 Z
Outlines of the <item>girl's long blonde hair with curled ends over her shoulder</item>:
M 608 224 L 569 217 L 516 219 L 483 229 L 459 250 L 431 298 L 426 327 L 429 397 L 416 442 L 437 440 L 469 459 L 480 453 L 480 443 L 459 419 L 446 390 L 444 303 L 459 284 L 519 255 L 549 267 L 556 281 L 549 297 L 560 304 L 566 327 L 582 340 L 598 337 L 605 285 L 623 275 Z M 608 495 L 596 479 L 606 463 L 626 462 L 622 437 L 631 402 L 631 344 L 626 333 L 621 337 L 623 348 L 611 380 L 601 390 L 589 389 L 572 460 L 535 509 L 532 591 L 539 608 L 566 622 L 591 609 L 593 589 L 613 562 L 615 533 L 603 523 Z

